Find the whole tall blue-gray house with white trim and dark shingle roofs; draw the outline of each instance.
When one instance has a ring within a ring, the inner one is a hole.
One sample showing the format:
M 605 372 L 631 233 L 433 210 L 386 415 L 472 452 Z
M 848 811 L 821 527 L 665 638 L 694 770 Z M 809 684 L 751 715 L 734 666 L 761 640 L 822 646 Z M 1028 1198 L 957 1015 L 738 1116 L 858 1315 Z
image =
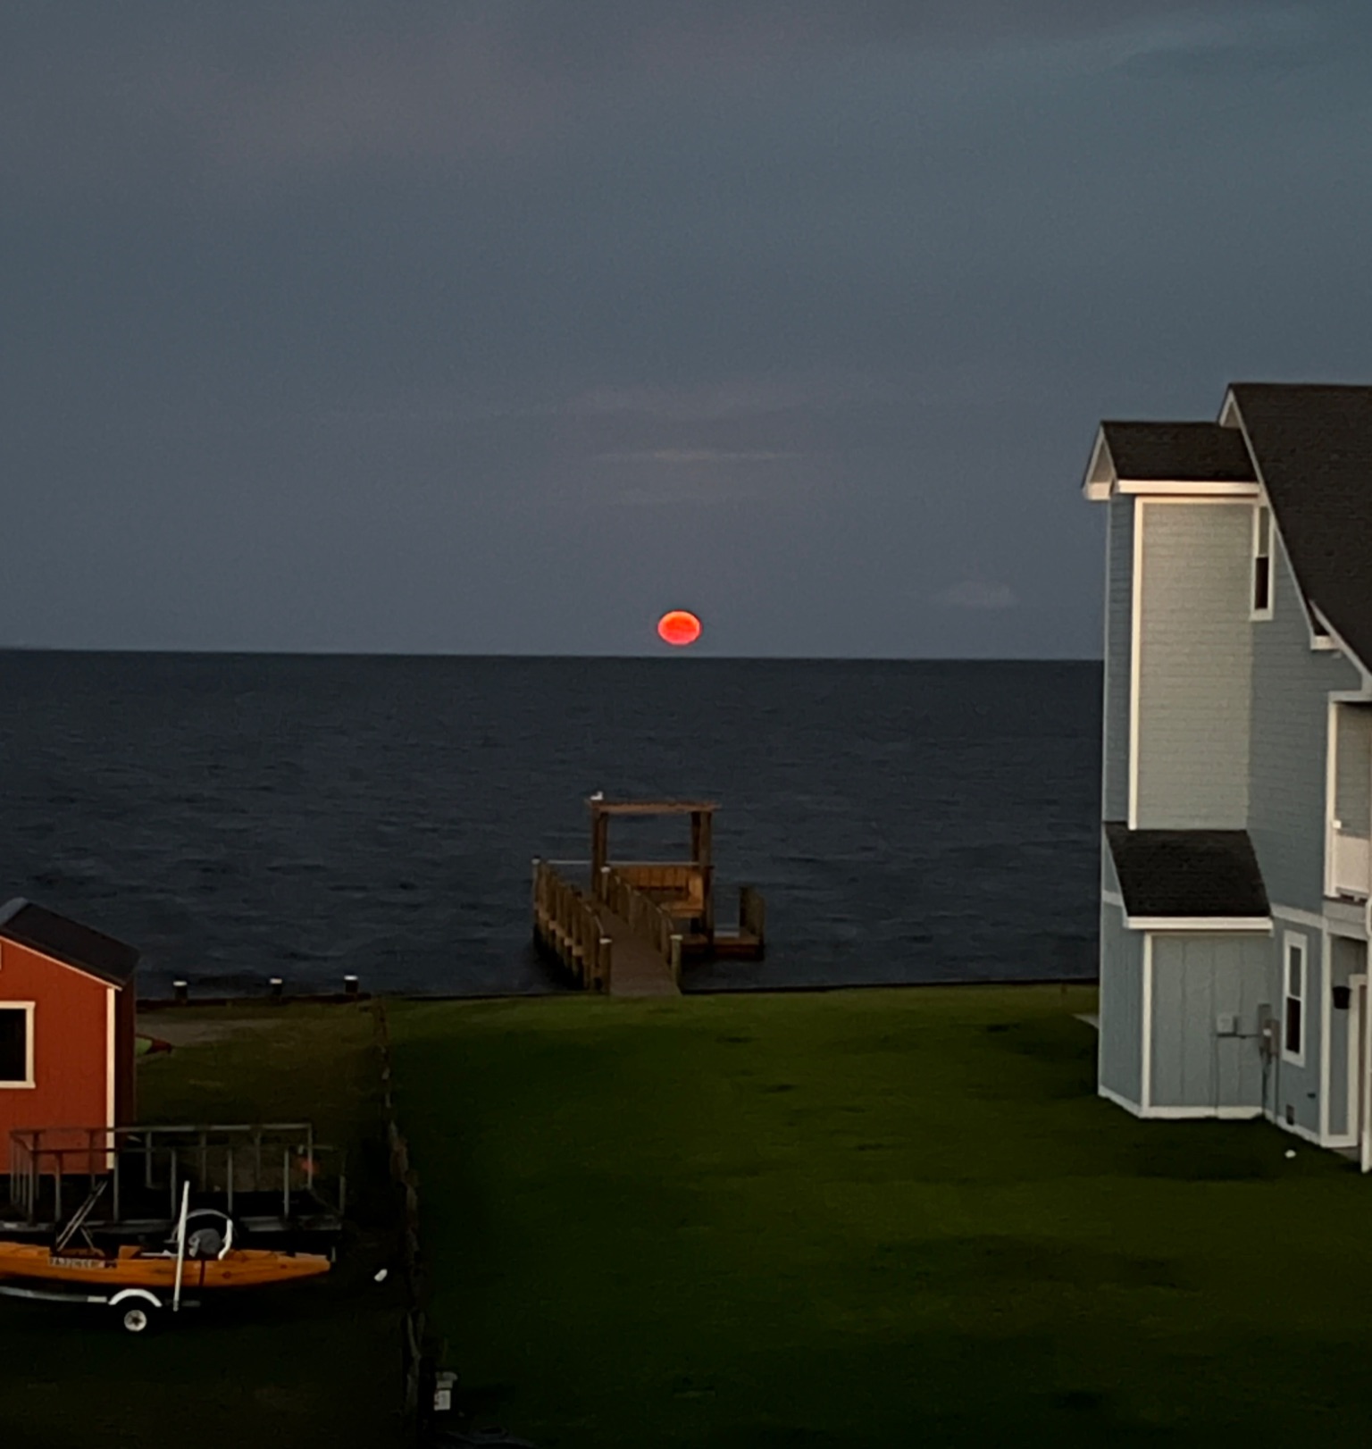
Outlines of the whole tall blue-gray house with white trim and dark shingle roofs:
M 1100 1093 L 1372 1166 L 1372 387 L 1107 422 Z

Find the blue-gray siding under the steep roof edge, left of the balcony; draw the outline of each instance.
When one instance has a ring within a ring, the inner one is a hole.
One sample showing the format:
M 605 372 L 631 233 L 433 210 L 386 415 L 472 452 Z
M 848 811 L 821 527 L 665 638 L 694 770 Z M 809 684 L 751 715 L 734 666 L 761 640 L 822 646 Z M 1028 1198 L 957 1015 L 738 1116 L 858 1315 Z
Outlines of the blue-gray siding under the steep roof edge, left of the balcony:
M 1272 617 L 1252 625 L 1249 836 L 1273 906 L 1318 914 L 1324 901 L 1329 693 L 1356 690 L 1339 652 L 1310 648 L 1310 627 L 1279 536 Z

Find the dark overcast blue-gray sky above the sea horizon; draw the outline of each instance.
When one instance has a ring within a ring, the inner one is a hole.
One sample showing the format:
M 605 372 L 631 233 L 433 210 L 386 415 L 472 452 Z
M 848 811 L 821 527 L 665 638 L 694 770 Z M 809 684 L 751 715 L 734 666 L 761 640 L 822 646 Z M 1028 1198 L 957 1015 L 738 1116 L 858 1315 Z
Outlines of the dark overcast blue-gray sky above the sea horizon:
M 0 645 L 1098 655 L 1369 162 L 1368 0 L 10 0 Z

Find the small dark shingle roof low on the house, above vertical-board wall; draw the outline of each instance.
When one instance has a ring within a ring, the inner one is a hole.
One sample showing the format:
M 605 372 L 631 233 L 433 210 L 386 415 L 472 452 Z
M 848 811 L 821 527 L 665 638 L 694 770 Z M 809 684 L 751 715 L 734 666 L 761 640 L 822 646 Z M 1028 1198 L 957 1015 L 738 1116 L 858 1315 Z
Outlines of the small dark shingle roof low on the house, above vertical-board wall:
M 1130 916 L 1266 916 L 1247 830 L 1130 830 L 1105 823 Z

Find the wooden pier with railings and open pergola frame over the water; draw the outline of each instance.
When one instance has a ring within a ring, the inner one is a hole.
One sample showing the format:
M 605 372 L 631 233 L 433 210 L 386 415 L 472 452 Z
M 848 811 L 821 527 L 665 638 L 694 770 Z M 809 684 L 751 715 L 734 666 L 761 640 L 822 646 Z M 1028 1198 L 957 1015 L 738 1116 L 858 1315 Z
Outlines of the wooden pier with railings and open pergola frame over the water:
M 762 895 L 739 893 L 739 924 L 714 916 L 711 822 L 700 801 L 590 800 L 591 859 L 533 862 L 533 935 L 578 985 L 610 995 L 677 995 L 693 956 L 748 956 L 765 948 Z M 610 859 L 614 816 L 690 816 L 687 861 Z

